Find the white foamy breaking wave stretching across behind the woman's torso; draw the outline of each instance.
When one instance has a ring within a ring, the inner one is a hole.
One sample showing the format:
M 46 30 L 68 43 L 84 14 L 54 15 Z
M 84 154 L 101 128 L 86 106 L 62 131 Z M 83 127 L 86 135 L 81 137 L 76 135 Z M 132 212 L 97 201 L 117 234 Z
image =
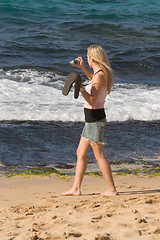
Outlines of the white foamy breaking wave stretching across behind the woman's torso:
M 36 70 L 0 71 L 0 120 L 84 121 L 83 98 L 62 95 L 64 77 Z M 108 121 L 160 119 L 160 88 L 115 84 L 106 98 Z

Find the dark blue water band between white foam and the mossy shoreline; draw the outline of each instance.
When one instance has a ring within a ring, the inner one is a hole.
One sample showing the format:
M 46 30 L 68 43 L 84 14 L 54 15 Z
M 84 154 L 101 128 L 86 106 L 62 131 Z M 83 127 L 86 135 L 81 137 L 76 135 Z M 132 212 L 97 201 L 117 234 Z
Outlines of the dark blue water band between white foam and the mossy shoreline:
M 159 122 L 108 123 L 104 151 L 111 164 L 140 164 L 156 158 L 159 149 Z M 0 124 L 0 156 L 4 167 L 75 166 L 83 123 L 3 122 Z M 96 163 L 91 150 L 88 163 Z M 160 161 L 153 161 L 153 165 Z

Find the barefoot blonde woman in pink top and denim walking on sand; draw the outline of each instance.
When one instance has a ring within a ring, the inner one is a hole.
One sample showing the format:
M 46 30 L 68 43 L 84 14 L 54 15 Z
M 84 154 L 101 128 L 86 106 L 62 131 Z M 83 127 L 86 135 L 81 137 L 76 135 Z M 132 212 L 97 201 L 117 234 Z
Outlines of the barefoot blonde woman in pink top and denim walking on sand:
M 86 89 L 83 86 L 80 88 L 81 94 L 85 99 L 85 126 L 77 149 L 75 180 L 73 187 L 61 195 L 81 195 L 81 183 L 87 168 L 87 152 L 92 147 L 94 156 L 108 185 L 108 189 L 101 195 L 114 196 L 117 195 L 117 191 L 113 182 L 111 168 L 103 149 L 103 137 L 106 126 L 104 102 L 107 93 L 109 94 L 111 91 L 113 83 L 112 69 L 104 49 L 97 45 L 91 45 L 87 49 L 87 61 L 93 69 L 93 74 L 85 67 L 82 57 L 78 57 L 76 60 L 79 62 L 79 65 L 74 66 L 84 71 L 90 83 Z

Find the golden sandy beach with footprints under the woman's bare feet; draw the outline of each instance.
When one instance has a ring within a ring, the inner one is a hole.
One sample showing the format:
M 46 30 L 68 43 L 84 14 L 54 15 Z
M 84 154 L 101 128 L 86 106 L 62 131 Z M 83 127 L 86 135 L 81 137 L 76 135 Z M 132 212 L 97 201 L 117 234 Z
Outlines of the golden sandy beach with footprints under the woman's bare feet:
M 0 178 L 0 239 L 160 239 L 160 176 L 114 175 L 119 195 L 99 196 L 103 177 L 85 176 L 82 196 L 60 196 L 72 176 Z

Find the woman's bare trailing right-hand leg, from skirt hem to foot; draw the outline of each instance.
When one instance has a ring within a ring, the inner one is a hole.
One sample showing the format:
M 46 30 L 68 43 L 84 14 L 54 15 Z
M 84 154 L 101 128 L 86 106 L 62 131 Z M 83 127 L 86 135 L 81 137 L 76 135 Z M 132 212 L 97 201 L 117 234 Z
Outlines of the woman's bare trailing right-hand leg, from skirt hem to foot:
M 100 170 L 107 182 L 108 189 L 102 193 L 102 195 L 117 195 L 117 191 L 113 182 L 112 171 L 110 165 L 105 157 L 103 144 L 91 143 L 91 147 L 94 152 L 94 156 L 99 164 Z

